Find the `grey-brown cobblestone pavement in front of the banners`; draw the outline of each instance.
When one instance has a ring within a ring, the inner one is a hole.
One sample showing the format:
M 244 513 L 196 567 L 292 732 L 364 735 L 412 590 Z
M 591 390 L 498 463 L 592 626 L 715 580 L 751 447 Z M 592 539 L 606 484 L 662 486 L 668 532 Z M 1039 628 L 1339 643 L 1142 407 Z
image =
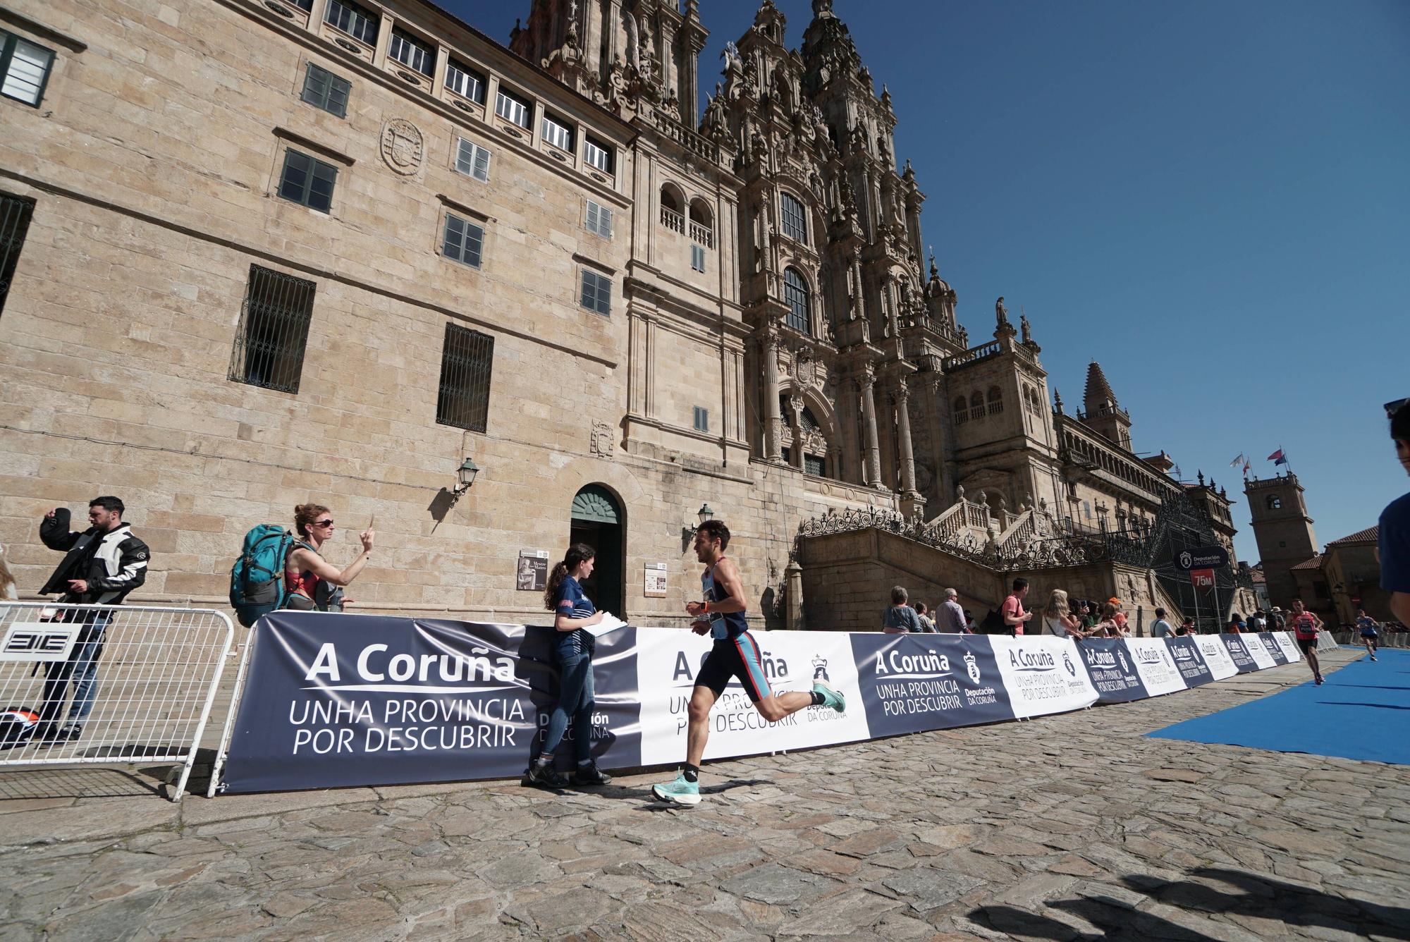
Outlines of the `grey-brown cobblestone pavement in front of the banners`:
M 695 809 L 7 773 L 0 938 L 1410 939 L 1410 769 L 1142 736 L 1306 678 L 716 763 Z M 63 781 L 113 797 L 23 797 Z

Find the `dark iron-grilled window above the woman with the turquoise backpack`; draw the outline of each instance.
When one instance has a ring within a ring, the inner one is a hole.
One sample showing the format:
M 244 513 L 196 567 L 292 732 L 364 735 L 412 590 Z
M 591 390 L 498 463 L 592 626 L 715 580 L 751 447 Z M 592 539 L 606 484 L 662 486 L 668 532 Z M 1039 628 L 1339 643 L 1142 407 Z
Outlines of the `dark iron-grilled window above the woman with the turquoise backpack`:
M 299 392 L 303 350 L 309 343 L 314 283 L 259 265 L 250 267 L 250 288 L 240 312 L 230 378 L 252 386 Z

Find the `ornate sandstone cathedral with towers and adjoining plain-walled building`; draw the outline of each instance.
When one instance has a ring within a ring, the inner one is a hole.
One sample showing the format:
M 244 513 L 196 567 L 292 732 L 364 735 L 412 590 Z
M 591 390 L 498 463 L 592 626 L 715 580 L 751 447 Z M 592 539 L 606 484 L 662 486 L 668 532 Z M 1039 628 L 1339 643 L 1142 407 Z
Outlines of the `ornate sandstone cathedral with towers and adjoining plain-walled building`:
M 1004 299 L 971 344 L 832 7 L 791 49 L 764 0 L 704 102 L 695 0 L 536 0 L 509 47 L 426 0 L 0 10 L 21 588 L 38 518 L 113 492 L 168 602 L 316 499 L 334 563 L 375 518 L 361 611 L 547 618 L 534 560 L 588 539 L 599 605 L 670 623 L 708 513 L 774 626 L 869 628 L 885 558 L 1179 609 L 1162 567 L 1230 543 L 1227 495 L 1138 457 L 1096 364 L 1067 415 Z M 823 551 L 839 520 L 911 556 Z

